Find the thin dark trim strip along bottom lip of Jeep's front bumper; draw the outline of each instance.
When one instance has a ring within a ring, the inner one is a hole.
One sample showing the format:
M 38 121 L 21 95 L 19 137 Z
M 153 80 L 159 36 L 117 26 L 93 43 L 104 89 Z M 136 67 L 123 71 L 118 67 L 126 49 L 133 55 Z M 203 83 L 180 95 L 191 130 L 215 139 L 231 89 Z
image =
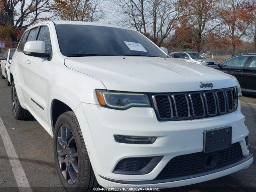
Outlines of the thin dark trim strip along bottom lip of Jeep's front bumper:
M 238 161 L 238 162 L 236 162 L 234 164 L 230 164 L 228 166 L 224 166 L 224 167 L 221 167 L 221 168 L 210 170 L 210 171 L 204 172 L 204 173 L 199 173 L 199 174 L 194 174 L 194 175 L 189 175 L 189 176 L 182 176 L 182 177 L 171 178 L 171 179 L 148 180 L 148 181 L 123 181 L 123 180 L 115 180 L 115 179 L 106 178 L 106 177 L 101 176 L 101 175 L 99 175 L 99 176 L 101 178 L 105 179 L 105 180 L 108 180 L 108 181 L 111 181 L 111 182 L 115 182 L 115 183 L 121 183 L 121 184 L 146 185 L 146 184 L 168 183 L 168 182 L 186 180 L 186 179 L 196 178 L 196 177 L 200 177 L 200 176 L 204 176 L 204 175 L 220 172 L 220 171 L 232 168 L 234 166 L 237 166 L 239 164 L 242 164 L 242 163 L 250 160 L 251 158 L 253 158 L 253 154 L 250 154 L 249 156 L 244 157 L 242 160 L 240 160 L 240 161 Z

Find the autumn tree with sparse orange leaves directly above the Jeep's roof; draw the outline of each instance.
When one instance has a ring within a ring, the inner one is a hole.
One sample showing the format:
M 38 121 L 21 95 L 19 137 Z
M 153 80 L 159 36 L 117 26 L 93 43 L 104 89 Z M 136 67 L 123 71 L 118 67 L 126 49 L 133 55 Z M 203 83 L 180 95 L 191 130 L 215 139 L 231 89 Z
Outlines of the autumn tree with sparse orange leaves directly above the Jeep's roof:
M 104 0 L 54 0 L 52 7 L 56 16 L 62 20 L 96 22 L 103 18 L 99 9 Z

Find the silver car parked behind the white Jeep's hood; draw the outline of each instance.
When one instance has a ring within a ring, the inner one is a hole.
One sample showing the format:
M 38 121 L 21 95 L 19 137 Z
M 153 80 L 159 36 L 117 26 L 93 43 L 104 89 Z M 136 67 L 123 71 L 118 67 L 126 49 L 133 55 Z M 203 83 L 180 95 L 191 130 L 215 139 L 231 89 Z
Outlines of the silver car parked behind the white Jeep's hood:
M 188 61 L 200 65 L 214 65 L 215 61 L 212 59 L 208 59 L 202 54 L 198 52 L 190 52 L 190 51 L 180 51 L 180 52 L 172 52 L 170 53 L 172 58 Z

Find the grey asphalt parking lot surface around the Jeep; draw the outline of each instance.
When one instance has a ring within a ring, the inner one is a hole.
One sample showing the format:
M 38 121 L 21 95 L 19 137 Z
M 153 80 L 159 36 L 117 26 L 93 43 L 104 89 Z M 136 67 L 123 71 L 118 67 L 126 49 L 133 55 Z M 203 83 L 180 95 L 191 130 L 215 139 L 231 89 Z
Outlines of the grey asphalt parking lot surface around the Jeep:
M 5 135 L 4 139 L 0 137 L 0 191 L 65 191 L 54 166 L 52 137 L 34 118 L 14 119 L 10 98 L 10 87 L 6 86 L 5 80 L 0 80 L 0 119 L 9 136 Z M 256 155 L 256 98 L 243 96 L 240 101 L 250 131 L 249 150 Z M 13 165 L 16 165 L 16 169 Z M 255 157 L 253 164 L 246 170 L 200 184 L 161 191 L 256 191 Z

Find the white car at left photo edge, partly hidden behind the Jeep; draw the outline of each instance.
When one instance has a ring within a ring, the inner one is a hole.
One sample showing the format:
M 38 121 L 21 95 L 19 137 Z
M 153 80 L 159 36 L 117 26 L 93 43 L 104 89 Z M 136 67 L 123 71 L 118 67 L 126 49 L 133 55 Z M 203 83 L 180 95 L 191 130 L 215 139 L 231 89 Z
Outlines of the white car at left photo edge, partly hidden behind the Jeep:
M 4 57 L 0 58 L 1 62 L 1 71 L 2 71 L 2 79 L 6 79 L 6 83 L 10 86 L 10 66 L 12 62 L 12 56 L 15 52 L 16 48 L 10 48 L 6 50 Z

